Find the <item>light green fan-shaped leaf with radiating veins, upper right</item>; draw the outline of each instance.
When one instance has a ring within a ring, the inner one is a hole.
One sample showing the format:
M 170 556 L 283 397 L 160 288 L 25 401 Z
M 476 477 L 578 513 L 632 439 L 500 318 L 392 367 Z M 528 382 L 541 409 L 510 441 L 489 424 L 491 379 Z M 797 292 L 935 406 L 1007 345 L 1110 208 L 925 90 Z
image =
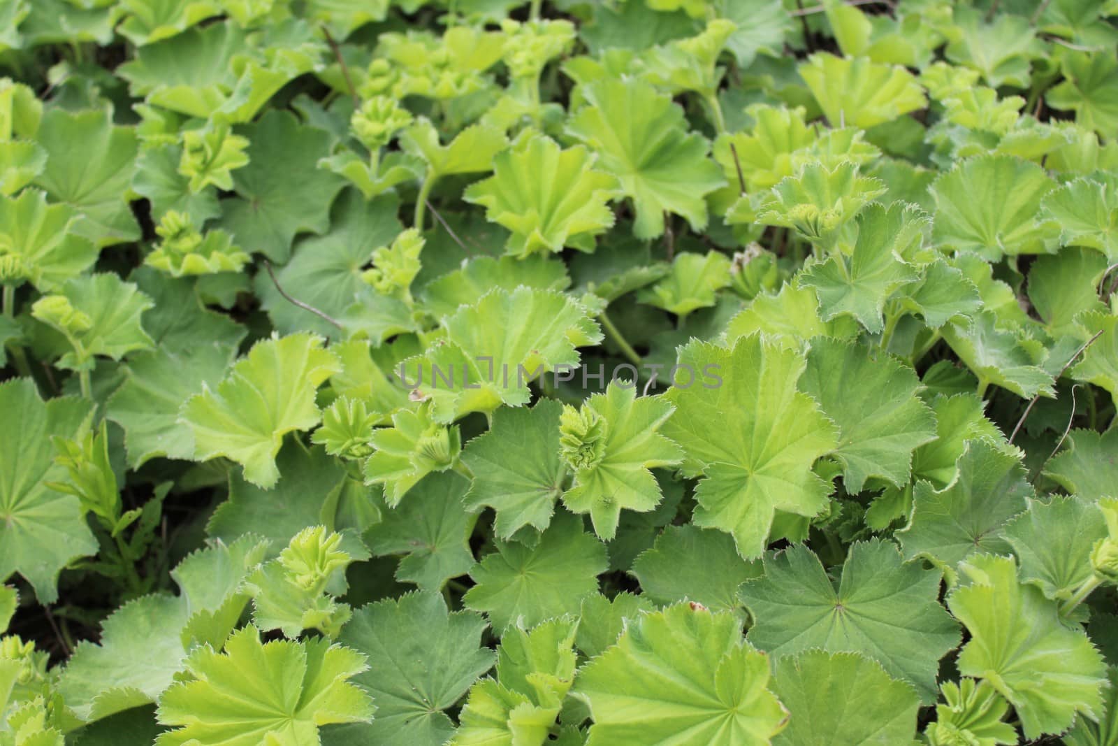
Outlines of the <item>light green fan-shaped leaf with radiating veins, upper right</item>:
M 1040 166 L 1012 155 L 979 155 L 940 173 L 932 239 L 988 261 L 1054 251 L 1059 227 L 1042 221 L 1041 199 L 1055 188 Z

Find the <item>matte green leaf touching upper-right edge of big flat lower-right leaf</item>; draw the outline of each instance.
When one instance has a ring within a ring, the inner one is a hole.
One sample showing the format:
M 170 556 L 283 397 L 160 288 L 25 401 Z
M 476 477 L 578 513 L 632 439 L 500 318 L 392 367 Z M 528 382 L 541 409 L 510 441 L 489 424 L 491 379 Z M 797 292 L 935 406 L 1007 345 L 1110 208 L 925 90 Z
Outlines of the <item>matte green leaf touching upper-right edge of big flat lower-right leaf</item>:
M 1020 457 L 984 438 L 967 442 L 947 487 L 917 482 L 909 525 L 897 532 L 904 556 L 928 557 L 954 570 L 975 553 L 1008 554 L 1005 526 L 1033 497 L 1026 476 Z

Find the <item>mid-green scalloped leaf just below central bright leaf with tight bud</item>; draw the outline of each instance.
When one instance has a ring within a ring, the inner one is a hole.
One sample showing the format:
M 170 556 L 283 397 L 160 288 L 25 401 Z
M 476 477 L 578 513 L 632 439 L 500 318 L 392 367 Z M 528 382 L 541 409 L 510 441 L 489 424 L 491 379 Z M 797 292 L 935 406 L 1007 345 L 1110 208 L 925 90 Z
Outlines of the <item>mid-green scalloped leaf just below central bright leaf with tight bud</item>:
M 606 548 L 582 530 L 580 518 L 566 512 L 551 519 L 532 548 L 515 541 L 495 545 L 496 551 L 470 573 L 477 585 L 463 596 L 466 607 L 489 615 L 494 630 L 577 614 L 608 566 Z

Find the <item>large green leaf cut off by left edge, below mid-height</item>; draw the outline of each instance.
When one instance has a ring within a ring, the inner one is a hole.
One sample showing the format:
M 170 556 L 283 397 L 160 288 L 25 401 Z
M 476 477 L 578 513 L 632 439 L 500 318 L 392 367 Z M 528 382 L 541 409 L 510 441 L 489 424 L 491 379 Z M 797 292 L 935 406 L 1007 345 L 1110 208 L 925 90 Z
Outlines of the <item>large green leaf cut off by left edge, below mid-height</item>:
M 75 437 L 89 415 L 89 403 L 75 397 L 44 403 L 29 378 L 0 384 L 0 579 L 19 573 L 40 603 L 58 598 L 58 573 L 72 560 L 92 555 L 97 542 L 77 498 L 47 487 L 65 474 L 54 463 L 50 438 Z

